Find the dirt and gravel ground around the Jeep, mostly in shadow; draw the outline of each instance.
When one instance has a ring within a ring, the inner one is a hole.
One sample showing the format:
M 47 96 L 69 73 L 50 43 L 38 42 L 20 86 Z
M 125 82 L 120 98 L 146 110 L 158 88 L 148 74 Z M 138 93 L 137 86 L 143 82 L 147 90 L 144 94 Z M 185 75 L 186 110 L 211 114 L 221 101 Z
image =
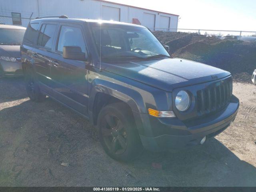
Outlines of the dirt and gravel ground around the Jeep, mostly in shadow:
M 22 78 L 0 79 L 0 186 L 256 186 L 256 86 L 234 83 L 234 94 L 237 118 L 216 138 L 125 164 L 87 120 L 50 98 L 31 102 Z

